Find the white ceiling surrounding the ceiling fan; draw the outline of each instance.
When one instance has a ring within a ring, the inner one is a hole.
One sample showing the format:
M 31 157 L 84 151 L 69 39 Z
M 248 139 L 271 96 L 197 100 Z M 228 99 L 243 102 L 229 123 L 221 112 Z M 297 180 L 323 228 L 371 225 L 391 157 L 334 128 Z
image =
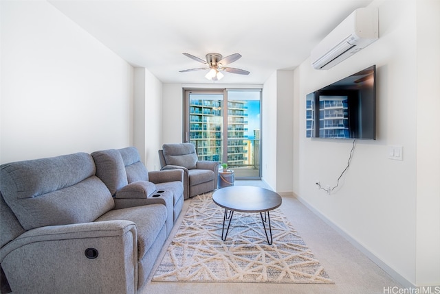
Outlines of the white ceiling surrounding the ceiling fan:
M 294 69 L 353 10 L 371 0 L 109 1 L 50 0 L 63 14 L 133 66 L 164 83 L 208 83 L 206 53 L 243 57 L 216 84 L 263 84 L 278 69 Z

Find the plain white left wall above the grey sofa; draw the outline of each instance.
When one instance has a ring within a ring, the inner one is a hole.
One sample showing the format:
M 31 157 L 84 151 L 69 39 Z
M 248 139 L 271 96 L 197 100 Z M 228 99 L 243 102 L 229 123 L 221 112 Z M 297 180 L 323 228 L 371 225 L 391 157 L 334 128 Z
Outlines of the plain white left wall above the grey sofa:
M 130 145 L 133 68 L 45 1 L 1 1 L 0 162 Z

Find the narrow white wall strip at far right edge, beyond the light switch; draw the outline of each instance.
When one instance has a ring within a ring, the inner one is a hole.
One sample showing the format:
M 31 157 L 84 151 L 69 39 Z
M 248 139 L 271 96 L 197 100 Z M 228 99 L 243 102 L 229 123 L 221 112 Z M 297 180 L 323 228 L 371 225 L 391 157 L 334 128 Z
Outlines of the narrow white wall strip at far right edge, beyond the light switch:
M 440 1 L 417 2 L 416 282 L 440 285 Z

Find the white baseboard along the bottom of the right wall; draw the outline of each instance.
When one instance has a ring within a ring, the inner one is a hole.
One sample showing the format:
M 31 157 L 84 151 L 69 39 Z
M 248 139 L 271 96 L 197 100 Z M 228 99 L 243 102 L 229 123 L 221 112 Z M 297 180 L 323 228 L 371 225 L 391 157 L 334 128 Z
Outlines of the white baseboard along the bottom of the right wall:
M 285 195 L 283 195 L 285 194 Z M 325 217 L 324 215 L 322 215 L 318 210 L 316 210 L 313 206 L 311 206 L 307 201 L 305 201 L 305 199 L 298 197 L 298 195 L 296 195 L 295 193 L 281 193 L 281 196 L 287 196 L 287 197 L 295 197 L 296 199 L 298 199 L 298 201 L 301 202 L 301 204 L 303 204 L 304 206 L 306 206 L 307 208 L 309 208 L 309 210 L 311 210 L 311 212 L 314 212 L 314 214 L 316 216 L 318 216 L 320 219 L 322 219 L 322 221 L 324 221 L 325 223 L 327 223 L 327 225 L 330 225 L 331 228 L 333 228 L 333 230 L 336 230 L 336 232 L 338 232 L 341 236 L 343 236 L 347 241 L 349 241 L 349 243 L 351 243 L 351 245 L 353 245 L 354 247 L 356 247 L 360 252 L 362 252 L 363 254 L 365 254 L 368 258 L 370 258 L 378 267 L 380 267 L 381 269 L 383 269 L 386 273 L 388 273 L 388 275 L 391 275 L 391 277 L 393 279 L 395 279 L 397 282 L 399 282 L 399 284 L 401 284 L 401 286 L 403 286 L 406 289 L 410 289 L 410 288 L 417 288 L 417 286 L 415 286 L 414 284 L 412 284 L 410 281 L 406 280 L 406 278 L 404 278 L 402 275 L 400 275 L 399 273 L 397 273 L 397 271 L 395 271 L 394 269 L 392 269 L 391 267 L 389 267 L 383 260 L 381 260 L 380 258 L 378 258 L 377 256 L 375 256 L 373 253 L 371 253 L 368 249 L 366 249 L 364 246 L 362 246 L 360 243 L 358 243 L 358 241 L 356 241 L 354 238 L 352 238 L 349 234 L 347 234 L 347 232 L 344 232 L 343 230 L 341 230 L 338 225 L 336 225 L 335 223 L 333 223 L 331 220 L 327 219 L 327 217 Z

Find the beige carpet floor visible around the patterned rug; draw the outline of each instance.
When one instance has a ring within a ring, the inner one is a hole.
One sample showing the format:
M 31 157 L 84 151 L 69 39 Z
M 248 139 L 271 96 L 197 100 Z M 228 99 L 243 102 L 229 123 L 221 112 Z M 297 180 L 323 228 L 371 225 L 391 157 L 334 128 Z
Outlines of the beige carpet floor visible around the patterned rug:
M 261 181 L 236 181 L 235 183 L 235 185 L 240 184 L 265 186 Z M 281 210 L 311 251 L 314 252 L 316 258 L 320 260 L 335 284 L 151 282 L 153 273 L 155 273 L 155 269 L 157 269 L 168 245 L 177 232 L 188 205 L 189 201 L 185 201 L 177 225 L 173 228 L 161 255 L 157 258 L 148 282 L 140 289 L 140 294 L 383 294 L 384 287 L 401 287 L 380 267 L 294 197 L 283 197 Z

